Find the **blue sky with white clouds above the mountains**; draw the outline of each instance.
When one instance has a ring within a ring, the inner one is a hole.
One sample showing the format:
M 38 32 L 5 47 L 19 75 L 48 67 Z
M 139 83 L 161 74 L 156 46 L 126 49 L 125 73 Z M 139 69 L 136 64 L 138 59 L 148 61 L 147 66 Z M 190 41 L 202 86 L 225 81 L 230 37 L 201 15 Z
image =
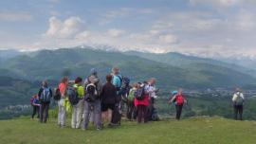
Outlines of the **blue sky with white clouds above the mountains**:
M 256 0 L 1 0 L 0 49 L 256 57 Z

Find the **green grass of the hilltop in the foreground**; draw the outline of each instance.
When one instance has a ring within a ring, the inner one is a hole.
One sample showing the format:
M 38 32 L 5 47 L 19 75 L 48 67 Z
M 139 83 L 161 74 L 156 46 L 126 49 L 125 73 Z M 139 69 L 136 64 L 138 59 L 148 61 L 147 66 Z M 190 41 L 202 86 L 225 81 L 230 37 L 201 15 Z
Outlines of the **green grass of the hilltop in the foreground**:
M 0 121 L 5 144 L 254 144 L 255 121 L 220 117 L 192 117 L 139 124 L 123 122 L 115 129 L 87 131 L 60 129 L 55 120 L 40 124 L 29 119 Z

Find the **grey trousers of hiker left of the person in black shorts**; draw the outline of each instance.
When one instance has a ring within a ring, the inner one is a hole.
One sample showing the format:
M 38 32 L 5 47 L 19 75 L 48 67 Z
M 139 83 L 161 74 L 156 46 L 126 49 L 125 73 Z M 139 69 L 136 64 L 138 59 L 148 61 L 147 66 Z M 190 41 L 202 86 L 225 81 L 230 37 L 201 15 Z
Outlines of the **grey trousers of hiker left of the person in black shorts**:
M 93 123 L 96 125 L 97 129 L 101 129 L 101 100 L 97 99 L 92 102 L 84 101 L 84 111 L 83 111 L 83 125 L 82 129 L 86 130 L 88 128 L 90 117 L 93 118 Z

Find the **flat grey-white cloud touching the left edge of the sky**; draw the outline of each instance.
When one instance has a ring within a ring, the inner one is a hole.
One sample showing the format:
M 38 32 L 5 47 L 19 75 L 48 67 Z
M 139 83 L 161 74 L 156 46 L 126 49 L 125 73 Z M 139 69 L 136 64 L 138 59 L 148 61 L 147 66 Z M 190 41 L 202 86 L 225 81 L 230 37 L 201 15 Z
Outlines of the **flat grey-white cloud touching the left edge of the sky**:
M 4 22 L 26 22 L 32 18 L 30 13 L 24 11 L 0 11 L 0 21 Z

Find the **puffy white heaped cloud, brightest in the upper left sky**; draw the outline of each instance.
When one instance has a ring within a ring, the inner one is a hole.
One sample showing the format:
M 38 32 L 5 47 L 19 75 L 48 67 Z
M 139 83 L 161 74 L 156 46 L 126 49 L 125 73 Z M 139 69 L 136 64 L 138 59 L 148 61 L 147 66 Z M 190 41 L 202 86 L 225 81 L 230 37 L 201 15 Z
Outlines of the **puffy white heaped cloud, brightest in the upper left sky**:
M 49 28 L 44 34 L 50 38 L 72 38 L 84 28 L 84 22 L 78 16 L 61 21 L 56 17 L 49 18 Z

